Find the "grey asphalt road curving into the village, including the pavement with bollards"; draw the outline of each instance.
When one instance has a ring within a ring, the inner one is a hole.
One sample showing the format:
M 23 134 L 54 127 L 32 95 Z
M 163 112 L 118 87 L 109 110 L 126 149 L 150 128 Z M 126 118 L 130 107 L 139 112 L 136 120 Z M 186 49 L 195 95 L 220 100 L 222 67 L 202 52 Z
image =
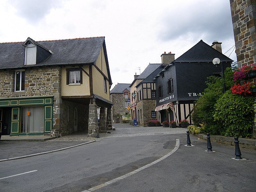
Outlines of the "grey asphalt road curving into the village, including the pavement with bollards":
M 182 129 L 169 134 L 165 134 L 168 129 L 129 125 L 116 129 L 90 144 L 0 162 L 0 191 L 90 192 L 99 185 L 104 187 L 97 192 L 255 191 L 255 150 L 241 148 L 246 160 L 238 161 L 232 159 L 233 146 L 212 143 L 216 152 L 206 152 L 207 142 L 193 135 L 190 140 L 195 146 L 186 147 L 187 135 Z M 177 139 L 179 148 L 160 161 L 174 149 Z M 156 160 L 159 162 L 151 164 Z M 148 164 L 124 179 L 104 184 Z

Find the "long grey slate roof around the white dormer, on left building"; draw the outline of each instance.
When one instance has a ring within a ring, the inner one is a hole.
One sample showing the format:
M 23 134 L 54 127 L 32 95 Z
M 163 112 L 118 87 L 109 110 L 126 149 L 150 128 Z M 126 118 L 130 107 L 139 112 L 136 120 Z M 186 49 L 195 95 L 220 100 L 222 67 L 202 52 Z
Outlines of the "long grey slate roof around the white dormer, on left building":
M 59 65 L 94 63 L 97 60 L 105 37 L 90 37 L 53 41 L 37 41 L 53 54 L 43 62 L 33 65 Z M 24 66 L 24 42 L 0 43 L 0 68 L 21 68 Z M 32 66 L 29 66 L 32 67 Z

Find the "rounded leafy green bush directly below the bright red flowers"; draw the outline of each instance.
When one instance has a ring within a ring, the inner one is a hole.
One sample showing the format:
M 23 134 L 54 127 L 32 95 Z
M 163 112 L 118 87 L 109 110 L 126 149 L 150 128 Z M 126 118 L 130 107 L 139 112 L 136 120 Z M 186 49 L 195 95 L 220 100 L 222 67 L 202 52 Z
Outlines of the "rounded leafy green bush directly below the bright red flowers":
M 216 102 L 214 120 L 219 121 L 227 137 L 248 137 L 252 127 L 254 98 L 226 91 Z

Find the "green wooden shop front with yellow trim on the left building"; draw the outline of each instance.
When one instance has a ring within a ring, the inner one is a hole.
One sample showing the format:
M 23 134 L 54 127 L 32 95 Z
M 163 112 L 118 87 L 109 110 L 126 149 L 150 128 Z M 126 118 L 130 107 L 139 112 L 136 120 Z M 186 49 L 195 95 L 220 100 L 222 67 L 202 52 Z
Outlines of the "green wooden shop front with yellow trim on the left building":
M 2 135 L 44 135 L 52 129 L 53 96 L 0 99 Z

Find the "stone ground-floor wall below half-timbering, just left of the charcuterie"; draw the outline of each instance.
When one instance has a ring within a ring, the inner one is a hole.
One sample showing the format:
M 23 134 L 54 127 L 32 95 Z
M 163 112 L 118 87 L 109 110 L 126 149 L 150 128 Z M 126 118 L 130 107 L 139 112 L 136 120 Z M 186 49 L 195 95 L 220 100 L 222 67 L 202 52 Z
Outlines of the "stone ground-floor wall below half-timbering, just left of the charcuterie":
M 141 109 L 140 119 L 138 119 L 141 126 L 146 127 L 148 120 L 157 120 L 157 116 L 156 118 L 151 117 L 151 111 L 155 111 L 155 108 L 156 100 L 148 99 L 137 102 L 137 110 Z

